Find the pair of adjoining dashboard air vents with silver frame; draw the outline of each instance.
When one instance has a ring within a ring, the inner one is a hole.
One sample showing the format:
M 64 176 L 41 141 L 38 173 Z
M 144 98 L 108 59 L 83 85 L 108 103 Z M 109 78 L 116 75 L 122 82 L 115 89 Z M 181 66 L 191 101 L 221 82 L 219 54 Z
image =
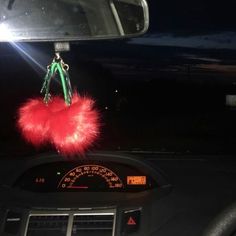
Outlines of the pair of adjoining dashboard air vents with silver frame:
M 116 210 L 32 211 L 24 236 L 114 236 Z

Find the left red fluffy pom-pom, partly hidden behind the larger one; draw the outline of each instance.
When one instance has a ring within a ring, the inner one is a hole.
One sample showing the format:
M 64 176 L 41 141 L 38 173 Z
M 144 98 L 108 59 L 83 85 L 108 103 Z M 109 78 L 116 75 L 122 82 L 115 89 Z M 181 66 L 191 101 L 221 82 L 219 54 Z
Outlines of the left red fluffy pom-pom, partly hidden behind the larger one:
M 48 141 L 50 113 L 41 98 L 28 100 L 19 108 L 17 125 L 28 142 L 40 146 Z

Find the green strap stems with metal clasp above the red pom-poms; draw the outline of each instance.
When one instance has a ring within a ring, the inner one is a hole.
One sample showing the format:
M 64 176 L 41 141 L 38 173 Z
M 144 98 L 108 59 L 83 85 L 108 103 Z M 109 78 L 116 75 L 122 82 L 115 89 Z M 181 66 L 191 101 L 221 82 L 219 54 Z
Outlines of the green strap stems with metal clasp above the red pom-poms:
M 44 78 L 43 87 L 40 91 L 41 93 L 45 94 L 44 102 L 46 104 L 48 104 L 51 98 L 51 95 L 50 95 L 51 80 L 55 78 L 57 75 L 59 75 L 61 79 L 62 88 L 63 88 L 65 103 L 68 106 L 71 105 L 72 88 L 71 88 L 68 70 L 69 70 L 69 66 L 63 62 L 59 53 L 56 53 L 56 56 L 53 59 L 52 64 L 47 67 L 47 74 Z

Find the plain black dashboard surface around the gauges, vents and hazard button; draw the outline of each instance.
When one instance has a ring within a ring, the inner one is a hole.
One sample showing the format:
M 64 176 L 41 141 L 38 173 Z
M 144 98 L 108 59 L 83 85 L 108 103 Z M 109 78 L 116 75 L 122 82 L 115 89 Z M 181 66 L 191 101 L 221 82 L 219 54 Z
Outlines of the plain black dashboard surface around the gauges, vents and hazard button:
M 96 163 L 99 159 L 100 164 L 104 160 L 107 163 L 116 160 L 120 165 L 141 168 L 142 175 L 151 176 L 157 185 L 144 191 L 130 192 L 32 192 L 20 189 L 19 185 L 11 186 L 32 167 L 61 160 L 55 156 L 1 160 L 1 214 L 4 215 L 8 208 L 75 210 L 115 206 L 116 235 L 122 235 L 119 231 L 122 211 L 140 208 L 140 229 L 133 235 L 199 236 L 208 222 L 236 199 L 236 162 L 232 159 L 157 154 L 139 158 L 101 153 L 94 154 L 92 159 L 97 160 Z

